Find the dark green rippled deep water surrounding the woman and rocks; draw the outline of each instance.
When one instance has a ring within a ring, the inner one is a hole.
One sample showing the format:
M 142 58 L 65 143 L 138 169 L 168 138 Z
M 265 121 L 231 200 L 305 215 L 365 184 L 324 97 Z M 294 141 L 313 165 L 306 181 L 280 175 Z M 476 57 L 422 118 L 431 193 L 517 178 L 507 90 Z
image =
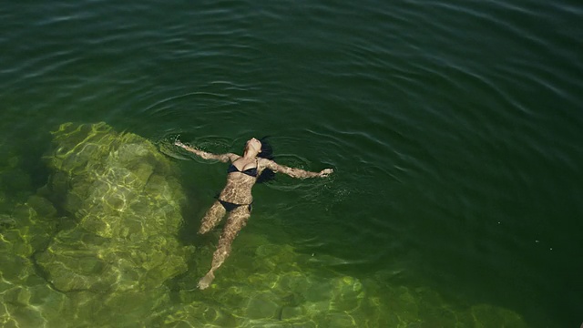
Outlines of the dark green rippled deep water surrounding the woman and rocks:
M 336 172 L 257 186 L 241 235 L 578 327 L 582 21 L 571 0 L 6 3 L 0 148 L 30 178 L 0 188 L 43 186 L 49 131 L 69 121 L 216 152 L 269 135 L 282 164 Z M 225 166 L 172 160 L 192 200 L 182 241 L 212 245 L 194 232 Z

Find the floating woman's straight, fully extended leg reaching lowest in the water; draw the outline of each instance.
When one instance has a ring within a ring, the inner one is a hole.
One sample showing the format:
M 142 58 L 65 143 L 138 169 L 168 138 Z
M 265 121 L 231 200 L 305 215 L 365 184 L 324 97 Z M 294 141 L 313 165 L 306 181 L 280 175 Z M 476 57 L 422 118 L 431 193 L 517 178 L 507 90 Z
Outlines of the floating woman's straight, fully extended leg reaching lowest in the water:
M 232 210 L 225 223 L 225 228 L 222 230 L 220 235 L 219 245 L 217 250 L 212 254 L 212 264 L 210 265 L 210 271 L 200 279 L 199 289 L 205 289 L 210 286 L 210 282 L 215 279 L 215 270 L 219 269 L 225 259 L 230 254 L 230 244 L 235 240 L 237 234 L 243 227 L 247 224 L 247 220 L 251 216 L 251 210 L 247 205 L 241 205 L 235 210 Z

